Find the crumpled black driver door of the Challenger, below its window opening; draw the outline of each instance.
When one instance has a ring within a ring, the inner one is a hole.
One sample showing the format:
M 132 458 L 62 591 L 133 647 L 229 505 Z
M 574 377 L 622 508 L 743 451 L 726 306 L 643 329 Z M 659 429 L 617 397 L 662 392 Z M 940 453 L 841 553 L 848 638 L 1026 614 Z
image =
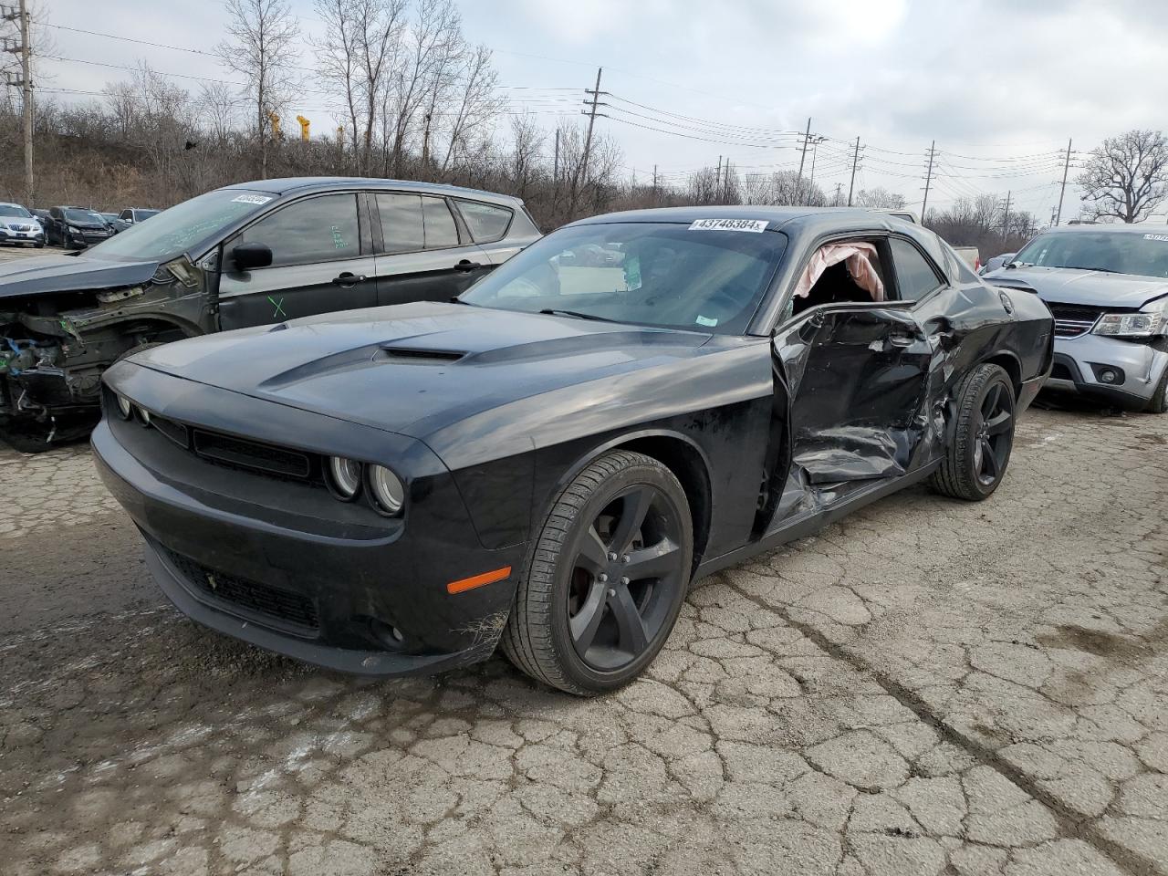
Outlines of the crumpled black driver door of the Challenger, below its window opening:
M 787 479 L 771 528 L 919 465 L 934 339 L 910 304 L 825 305 L 774 335 Z

